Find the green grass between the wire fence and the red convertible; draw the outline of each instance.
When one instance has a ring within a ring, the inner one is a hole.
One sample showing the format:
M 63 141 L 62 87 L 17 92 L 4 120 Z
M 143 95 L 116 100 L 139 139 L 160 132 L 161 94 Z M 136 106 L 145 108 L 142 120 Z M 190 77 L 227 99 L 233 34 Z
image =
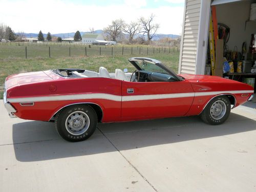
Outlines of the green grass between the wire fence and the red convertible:
M 9 47 L 10 50 L 7 48 Z M 127 68 L 129 72 L 134 71 L 134 67 L 127 60 L 130 57 L 141 56 L 141 57 L 151 57 L 162 61 L 167 67 L 178 71 L 179 63 L 179 52 L 170 52 L 167 51 L 160 53 L 144 53 L 141 51 L 133 52 L 133 54 L 124 54 L 124 55 L 107 55 L 102 54 L 101 56 L 84 56 L 84 55 L 75 55 L 73 57 L 63 57 L 63 56 L 37 56 L 37 57 L 10 57 L 7 56 L 10 52 L 17 51 L 15 48 L 20 46 L 3 46 L 0 45 L 0 98 L 3 99 L 4 92 L 4 82 L 5 78 L 11 74 L 31 72 L 31 71 L 41 71 L 49 69 L 60 69 L 60 68 L 79 68 L 79 69 L 88 69 L 99 71 L 99 67 L 103 66 L 108 69 L 110 72 L 114 72 L 116 68 L 124 69 Z M 34 46 L 35 47 L 35 46 Z M 39 47 L 39 46 L 38 46 Z M 116 46 L 117 47 L 117 46 Z M 127 49 L 131 48 L 130 46 L 126 47 Z M 134 49 L 137 49 L 134 48 Z M 143 48 L 142 48 L 143 49 Z M 162 48 L 160 48 L 162 49 Z M 3 51 L 4 50 L 4 51 Z M 40 50 L 40 49 L 39 49 Z M 146 47 L 144 47 L 146 50 Z M 59 51 L 60 52 L 60 51 Z M 39 53 L 39 52 L 38 52 Z M 4 57 L 5 55 L 5 57 Z

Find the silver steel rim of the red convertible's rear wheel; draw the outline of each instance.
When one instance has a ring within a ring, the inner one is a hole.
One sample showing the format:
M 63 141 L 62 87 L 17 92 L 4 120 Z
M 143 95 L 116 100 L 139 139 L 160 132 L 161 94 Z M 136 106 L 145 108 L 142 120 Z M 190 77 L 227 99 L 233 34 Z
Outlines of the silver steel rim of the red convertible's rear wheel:
M 90 118 L 82 111 L 75 111 L 67 117 L 65 126 L 70 134 L 81 135 L 89 129 Z

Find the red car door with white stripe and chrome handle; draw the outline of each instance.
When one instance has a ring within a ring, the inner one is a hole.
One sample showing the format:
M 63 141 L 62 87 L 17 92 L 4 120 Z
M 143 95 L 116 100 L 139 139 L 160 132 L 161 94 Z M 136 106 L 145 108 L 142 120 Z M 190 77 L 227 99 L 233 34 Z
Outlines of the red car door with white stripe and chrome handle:
M 122 120 L 184 116 L 194 99 L 187 80 L 174 82 L 122 81 Z

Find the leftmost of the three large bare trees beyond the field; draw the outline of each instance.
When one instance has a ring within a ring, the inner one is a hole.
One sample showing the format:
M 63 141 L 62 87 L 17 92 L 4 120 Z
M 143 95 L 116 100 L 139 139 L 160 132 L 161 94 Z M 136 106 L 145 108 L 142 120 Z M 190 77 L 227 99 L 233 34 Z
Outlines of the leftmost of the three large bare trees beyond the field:
M 122 19 L 113 20 L 112 24 L 104 28 L 106 37 L 110 40 L 116 41 L 122 35 L 124 21 Z

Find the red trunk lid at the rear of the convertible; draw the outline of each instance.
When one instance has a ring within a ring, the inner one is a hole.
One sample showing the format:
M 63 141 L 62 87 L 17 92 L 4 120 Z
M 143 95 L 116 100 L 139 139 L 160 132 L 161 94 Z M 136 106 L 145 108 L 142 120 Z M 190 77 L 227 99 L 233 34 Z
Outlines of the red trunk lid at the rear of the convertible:
M 44 71 L 20 73 L 8 76 L 6 78 L 5 86 L 8 89 L 10 87 L 17 86 L 20 84 L 49 80 L 52 80 L 52 78 L 49 77 Z

